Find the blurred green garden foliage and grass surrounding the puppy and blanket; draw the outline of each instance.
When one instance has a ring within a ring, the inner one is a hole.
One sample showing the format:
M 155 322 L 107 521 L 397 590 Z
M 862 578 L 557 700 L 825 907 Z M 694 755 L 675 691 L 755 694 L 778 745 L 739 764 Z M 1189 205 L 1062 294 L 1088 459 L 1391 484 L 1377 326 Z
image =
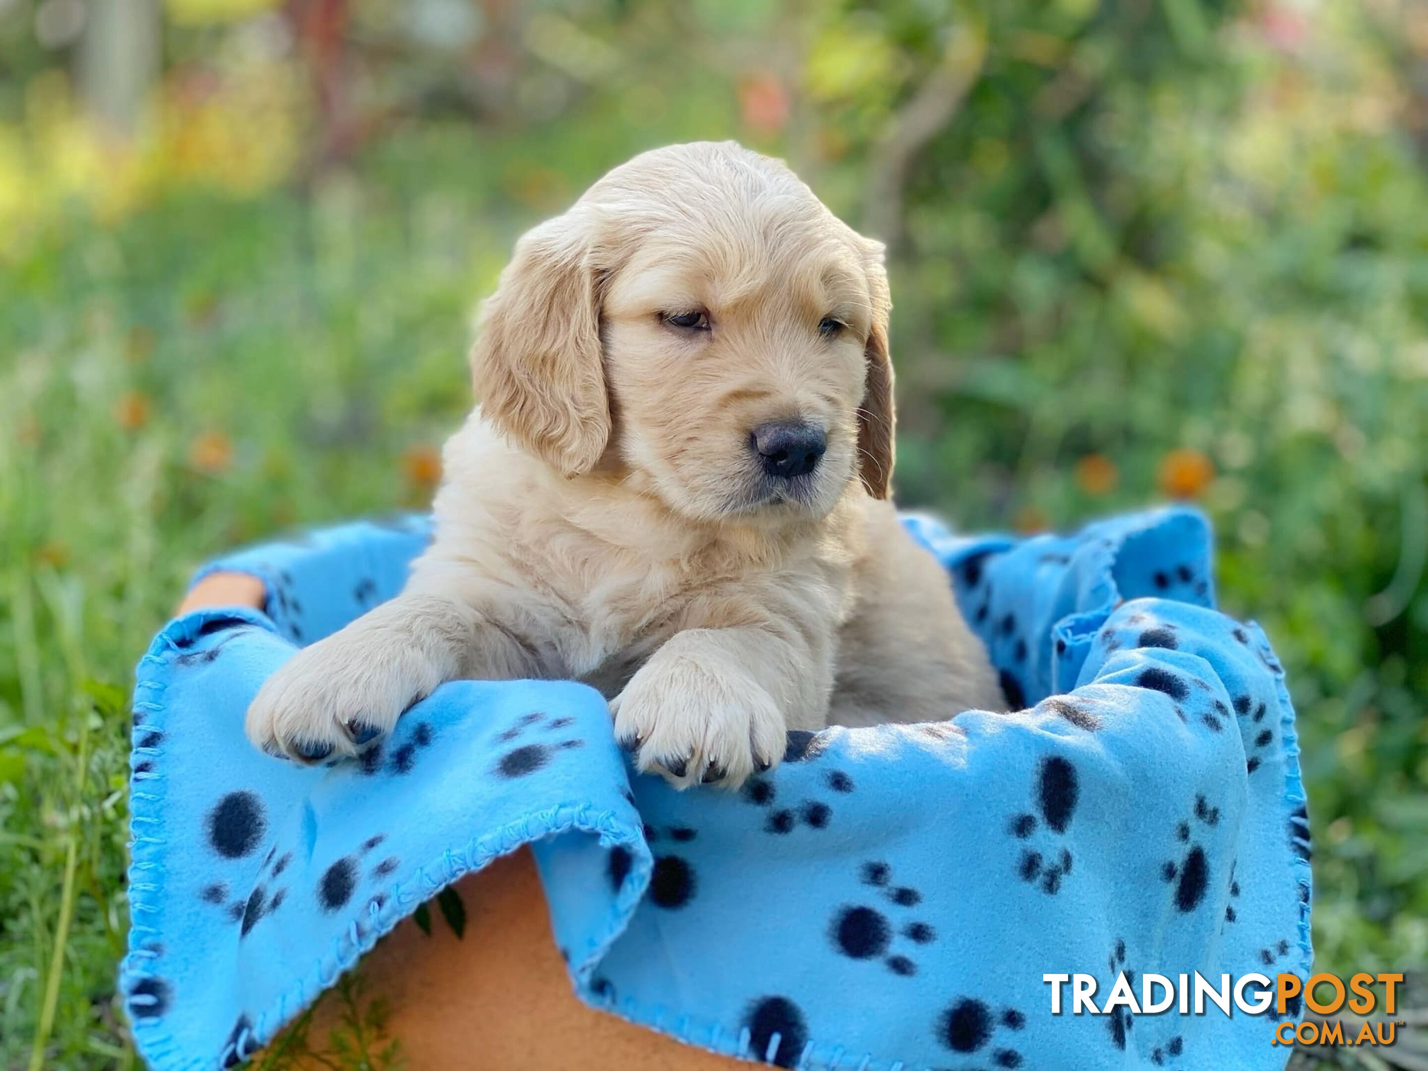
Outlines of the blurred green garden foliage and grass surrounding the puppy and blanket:
M 183 0 L 123 141 L 43 7 L 0 4 L 0 1067 L 133 1060 L 124 693 L 190 571 L 423 504 L 516 234 L 697 137 L 888 240 L 904 504 L 1200 498 L 1299 710 L 1319 964 L 1428 962 L 1419 6 Z

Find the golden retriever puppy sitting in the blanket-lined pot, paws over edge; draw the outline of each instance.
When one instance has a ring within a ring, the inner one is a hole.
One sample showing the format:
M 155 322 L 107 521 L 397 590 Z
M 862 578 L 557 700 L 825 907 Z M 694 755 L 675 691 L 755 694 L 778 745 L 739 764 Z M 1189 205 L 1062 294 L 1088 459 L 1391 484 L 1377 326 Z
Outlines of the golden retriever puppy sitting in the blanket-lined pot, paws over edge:
M 298 651 L 260 747 L 356 754 L 458 678 L 574 678 L 675 785 L 790 728 L 1002 708 L 888 501 L 883 247 L 734 143 L 617 167 L 516 247 L 406 590 Z

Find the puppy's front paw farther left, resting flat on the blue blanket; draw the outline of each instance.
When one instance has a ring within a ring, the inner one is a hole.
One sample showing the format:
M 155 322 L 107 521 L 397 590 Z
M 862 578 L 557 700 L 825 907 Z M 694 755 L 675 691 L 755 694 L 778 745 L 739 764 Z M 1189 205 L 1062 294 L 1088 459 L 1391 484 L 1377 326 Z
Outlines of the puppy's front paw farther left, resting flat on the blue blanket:
M 371 648 L 371 650 L 370 650 Z M 391 731 L 430 684 L 400 654 L 336 633 L 294 654 L 248 707 L 248 740 L 271 755 L 321 763 Z

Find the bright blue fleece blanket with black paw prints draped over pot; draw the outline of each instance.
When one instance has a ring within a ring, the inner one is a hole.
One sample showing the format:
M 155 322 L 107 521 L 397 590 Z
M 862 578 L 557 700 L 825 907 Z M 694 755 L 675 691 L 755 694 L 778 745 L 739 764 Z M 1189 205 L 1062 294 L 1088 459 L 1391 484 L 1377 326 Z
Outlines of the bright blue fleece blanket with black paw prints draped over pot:
M 261 681 L 396 594 L 427 526 L 214 563 L 261 577 L 267 613 L 190 614 L 139 664 L 121 985 L 144 1058 L 238 1062 L 443 885 L 531 844 L 580 997 L 694 1045 L 867 1071 L 1282 1067 L 1272 1014 L 1054 1017 L 1042 982 L 1090 972 L 1100 1001 L 1121 972 L 1308 974 L 1294 713 L 1262 633 L 1214 610 L 1205 521 L 907 524 L 1017 713 L 791 733 L 738 794 L 633 777 L 605 703 L 568 683 L 448 684 L 357 763 L 258 754 Z

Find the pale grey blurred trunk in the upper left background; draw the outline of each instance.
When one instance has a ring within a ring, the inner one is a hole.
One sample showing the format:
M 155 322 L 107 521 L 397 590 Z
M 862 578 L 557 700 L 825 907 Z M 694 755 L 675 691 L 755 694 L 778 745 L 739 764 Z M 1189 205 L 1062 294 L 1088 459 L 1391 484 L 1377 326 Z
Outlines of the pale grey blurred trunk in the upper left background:
M 79 49 L 86 111 L 120 140 L 133 139 L 159 79 L 160 0 L 90 0 Z

